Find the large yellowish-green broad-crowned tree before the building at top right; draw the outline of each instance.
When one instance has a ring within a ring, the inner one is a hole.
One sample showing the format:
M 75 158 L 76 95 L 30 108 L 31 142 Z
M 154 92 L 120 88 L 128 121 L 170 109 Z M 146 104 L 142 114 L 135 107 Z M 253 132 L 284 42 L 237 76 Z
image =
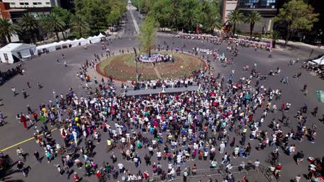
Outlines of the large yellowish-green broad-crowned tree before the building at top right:
M 301 0 L 291 0 L 280 8 L 275 22 L 285 23 L 287 35 L 285 45 L 287 45 L 291 33 L 298 30 L 311 30 L 314 22 L 318 21 L 318 14 L 314 13 L 314 8 Z

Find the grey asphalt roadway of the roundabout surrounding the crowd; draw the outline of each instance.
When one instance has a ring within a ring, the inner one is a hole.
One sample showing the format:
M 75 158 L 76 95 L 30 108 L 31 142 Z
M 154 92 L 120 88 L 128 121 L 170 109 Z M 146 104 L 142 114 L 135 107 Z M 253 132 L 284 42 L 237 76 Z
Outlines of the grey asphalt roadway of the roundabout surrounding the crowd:
M 138 19 L 137 12 L 134 12 L 134 17 Z M 127 21 L 125 23 L 125 32 L 123 39 L 112 40 L 112 43 L 109 43 L 108 48 L 114 51 L 116 54 L 119 54 L 119 50 L 127 50 L 127 48 L 132 49 L 133 47 L 138 48 L 138 40 L 132 39 L 131 36 L 127 36 L 125 34 L 131 34 L 130 32 L 134 32 L 134 24 L 131 21 L 132 17 L 129 13 L 127 13 Z M 141 20 L 138 19 L 138 22 Z M 129 38 L 130 37 L 130 38 Z M 215 49 L 218 48 L 220 52 L 224 52 L 227 57 L 231 57 L 228 52 L 226 52 L 226 44 L 222 45 L 213 45 L 211 43 L 206 43 L 205 45 L 201 45 L 201 41 L 197 40 L 187 40 L 187 39 L 173 39 L 169 34 L 158 33 L 156 44 L 163 44 L 165 41 L 168 45 L 179 45 L 181 47 L 182 41 L 186 45 L 184 51 L 191 50 L 194 47 L 199 48 L 209 48 Z M 222 68 L 219 62 L 213 63 L 215 67 L 215 74 L 220 72 L 221 74 L 226 75 L 226 77 L 231 74 L 232 70 L 235 70 L 234 80 L 237 80 L 238 77 L 247 77 L 249 75 L 248 72 L 243 72 L 242 68 L 244 65 L 252 65 L 256 62 L 258 63 L 258 68 L 263 73 L 269 73 L 269 71 L 276 70 L 277 67 L 280 67 L 282 72 L 281 75 L 285 77 L 289 77 L 289 84 L 280 83 L 280 76 L 267 77 L 267 81 L 262 81 L 260 84 L 270 87 L 272 89 L 279 88 L 282 90 L 282 99 L 280 101 L 275 102 L 278 107 L 282 102 L 287 103 L 287 101 L 291 102 L 291 110 L 287 114 L 290 117 L 292 127 L 296 129 L 296 125 L 298 125 L 298 121 L 294 119 L 294 114 L 296 114 L 297 110 L 307 103 L 309 110 L 312 110 L 316 105 L 319 107 L 318 116 L 324 114 L 324 105 L 323 103 L 319 103 L 316 99 L 316 90 L 324 90 L 323 80 L 318 79 L 318 77 L 314 77 L 309 72 L 305 70 L 301 70 L 299 68 L 300 64 L 289 66 L 288 61 L 290 59 L 296 59 L 299 57 L 300 59 L 306 59 L 309 56 L 309 52 L 311 48 L 294 48 L 294 50 L 274 50 L 273 57 L 270 59 L 268 57 L 269 52 L 265 50 L 258 50 L 255 52 L 252 48 L 240 48 L 240 54 L 237 57 L 233 57 L 233 65 L 230 67 Z M 40 103 L 48 103 L 49 100 L 53 100 L 53 90 L 57 94 L 66 94 L 68 92 L 69 86 L 75 90 L 78 95 L 84 94 L 84 90 L 80 87 L 80 80 L 76 77 L 76 72 L 80 68 L 80 64 L 84 63 L 86 59 L 93 59 L 93 54 L 100 54 L 101 43 L 91 44 L 88 46 L 87 50 L 84 50 L 83 47 L 75 47 L 69 48 L 65 50 L 59 50 L 56 52 L 51 52 L 46 55 L 42 55 L 41 57 L 37 57 L 32 61 L 27 61 L 24 65 L 26 70 L 26 74 L 21 76 L 18 75 L 13 77 L 0 87 L 0 99 L 2 99 L 2 103 L 4 105 L 0 106 L 0 110 L 6 116 L 6 121 L 8 124 L 4 125 L 0 128 L 1 138 L 0 138 L 0 150 L 3 148 L 8 148 L 10 145 L 14 145 L 15 143 L 19 143 L 20 141 L 24 141 L 33 136 L 35 130 L 30 128 L 30 130 L 25 131 L 21 123 L 19 123 L 16 119 L 16 115 L 19 112 L 27 112 L 27 105 L 33 110 L 37 110 L 38 105 Z M 61 55 L 65 55 L 65 59 L 62 60 Z M 323 50 L 314 50 L 313 55 L 316 56 L 318 54 L 323 54 Z M 56 59 L 60 59 L 60 63 L 56 62 Z M 64 67 L 64 61 L 68 64 L 68 67 Z M 12 65 L 10 65 L 12 66 Z M 1 70 L 4 70 L 8 67 L 8 65 L 1 65 Z M 300 80 L 292 79 L 292 75 L 296 72 L 302 72 L 302 77 Z M 94 74 L 94 71 L 93 71 Z M 97 79 L 100 80 L 101 77 L 97 76 Z M 27 88 L 26 83 L 30 82 L 32 88 Z M 44 88 L 37 88 L 37 81 L 44 85 Z M 303 85 L 307 83 L 309 93 L 307 97 L 303 96 L 303 93 L 300 92 L 300 89 Z M 89 84 L 91 87 L 94 87 L 94 83 Z M 13 97 L 11 92 L 11 87 L 15 87 L 19 94 L 16 97 Z M 27 89 L 28 98 L 24 99 L 21 90 L 25 88 Z M 260 117 L 260 112 L 256 113 L 256 118 Z M 270 114 L 267 117 L 264 125 L 261 130 L 267 130 L 267 123 L 271 121 L 272 118 L 279 119 L 281 117 L 280 114 Z M 305 152 L 305 157 L 308 156 L 322 156 L 323 155 L 323 145 L 321 145 L 321 139 L 324 139 L 323 135 L 323 124 L 318 121 L 318 118 L 312 117 L 309 114 L 309 120 L 307 122 L 307 126 L 310 127 L 312 123 L 317 125 L 317 138 L 316 143 L 311 143 L 310 141 L 299 142 L 291 142 L 295 143 L 297 146 L 297 150 L 303 150 Z M 40 125 L 40 123 L 37 123 Z M 290 128 L 283 128 L 284 132 L 288 132 Z M 57 139 L 57 141 L 62 142 L 62 137 L 59 132 L 53 132 L 53 137 Z M 233 136 L 231 136 L 233 137 Z M 231 139 L 230 137 L 230 139 Z M 111 163 L 111 159 L 109 159 L 109 154 L 105 153 L 105 139 L 107 136 L 102 136 L 102 141 L 99 145 L 97 145 L 95 152 L 96 156 L 94 160 L 97 161 L 99 165 L 101 165 L 102 161 L 109 161 Z M 251 156 L 249 159 L 232 159 L 233 165 L 238 165 L 240 161 L 255 161 L 255 159 L 260 159 L 260 161 L 264 161 L 269 153 L 271 152 L 271 148 L 266 148 L 261 152 L 257 152 L 254 147 L 258 145 L 257 141 L 251 141 L 253 149 L 251 151 Z M 58 174 L 55 164 L 60 163 L 60 160 L 55 160 L 52 163 L 46 163 L 44 160 L 42 163 L 37 163 L 37 161 L 33 157 L 33 152 L 35 150 L 39 151 L 39 153 L 44 156 L 44 150 L 39 148 L 39 145 L 35 143 L 34 140 L 28 141 L 26 143 L 22 143 L 19 147 L 23 148 L 25 152 L 28 152 L 30 156 L 27 157 L 26 165 L 30 165 L 31 170 L 27 178 L 22 176 L 21 172 L 15 172 L 15 166 L 12 168 L 12 171 L 6 172 L 6 178 L 8 181 L 66 181 L 66 176 L 60 176 Z M 6 150 L 5 154 L 10 154 L 14 161 L 18 160 L 17 154 L 15 154 L 15 150 L 17 147 L 10 148 Z M 227 152 L 233 152 L 233 149 L 226 148 Z M 120 152 L 118 150 L 115 153 L 120 157 Z M 142 161 L 143 156 L 145 155 L 145 150 L 140 150 L 139 154 L 141 156 Z M 216 159 L 218 162 L 221 161 L 222 155 L 216 155 Z M 120 161 L 120 159 L 118 159 Z M 156 161 L 156 157 L 152 158 L 152 161 Z M 209 168 L 209 161 L 188 161 L 187 165 L 192 166 L 193 163 L 197 163 L 198 168 Z M 292 159 L 292 156 L 286 156 L 282 154 L 280 156 L 280 162 L 283 165 L 282 168 L 282 181 L 289 181 L 289 179 L 294 178 L 297 174 L 306 174 L 307 173 L 307 161 L 302 163 L 301 165 L 296 165 Z M 125 168 L 129 169 L 132 173 L 138 172 L 141 170 L 144 172 L 147 170 L 152 174 L 152 167 L 147 168 L 142 164 L 140 168 L 136 169 L 134 163 L 127 163 L 126 161 L 122 162 L 125 165 Z M 116 163 L 115 163 L 116 165 Z M 161 162 L 163 168 L 168 168 L 168 164 L 165 161 Z M 115 166 L 117 167 L 117 166 Z M 182 169 L 184 167 L 181 167 Z M 82 174 L 83 170 L 76 170 L 78 174 Z M 119 181 L 120 181 L 119 177 Z M 72 179 L 70 179 L 72 181 Z M 94 177 L 89 179 L 89 181 L 96 181 Z M 305 181 L 305 179 L 303 180 Z

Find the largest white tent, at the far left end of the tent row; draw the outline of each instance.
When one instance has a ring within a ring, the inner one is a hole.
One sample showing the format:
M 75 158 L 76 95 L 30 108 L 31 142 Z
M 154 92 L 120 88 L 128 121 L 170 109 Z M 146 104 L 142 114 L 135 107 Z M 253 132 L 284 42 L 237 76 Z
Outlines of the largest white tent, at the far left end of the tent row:
M 36 46 L 26 43 L 9 43 L 0 49 L 0 62 L 14 63 L 37 54 Z

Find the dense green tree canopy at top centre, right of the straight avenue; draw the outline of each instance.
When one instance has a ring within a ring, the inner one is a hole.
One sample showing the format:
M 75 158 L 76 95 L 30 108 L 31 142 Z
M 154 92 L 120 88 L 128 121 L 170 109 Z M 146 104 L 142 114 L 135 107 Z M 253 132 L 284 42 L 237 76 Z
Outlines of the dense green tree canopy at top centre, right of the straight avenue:
M 138 7 L 138 1 L 132 1 Z M 199 0 L 141 0 L 141 12 L 154 17 L 161 27 L 184 30 L 202 30 L 212 32 L 222 26 L 218 1 Z

